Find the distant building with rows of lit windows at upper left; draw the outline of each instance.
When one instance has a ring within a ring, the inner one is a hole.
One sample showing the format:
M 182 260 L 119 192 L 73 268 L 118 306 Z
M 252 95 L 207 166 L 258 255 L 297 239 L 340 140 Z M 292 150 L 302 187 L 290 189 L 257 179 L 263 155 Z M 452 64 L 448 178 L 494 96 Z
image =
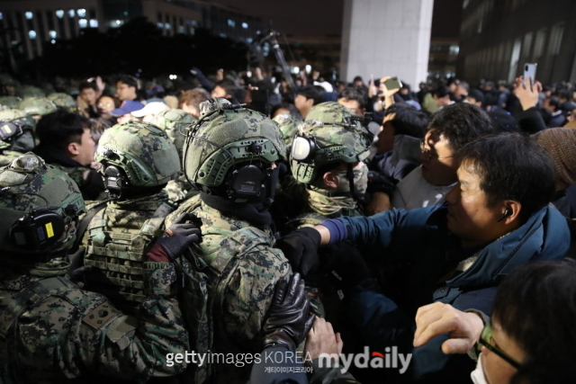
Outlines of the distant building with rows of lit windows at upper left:
M 251 15 L 202 0 L 0 0 L 0 49 L 38 58 L 45 43 L 74 38 L 85 29 L 118 28 L 142 16 L 165 36 L 206 28 L 251 43 L 257 31 L 266 29 Z

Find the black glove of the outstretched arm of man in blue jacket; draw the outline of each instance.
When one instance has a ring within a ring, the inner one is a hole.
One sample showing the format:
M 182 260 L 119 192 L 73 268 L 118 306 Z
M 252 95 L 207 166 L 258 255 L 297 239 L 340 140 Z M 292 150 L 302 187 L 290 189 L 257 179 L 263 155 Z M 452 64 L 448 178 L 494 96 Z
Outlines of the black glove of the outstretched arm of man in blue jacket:
M 320 240 L 319 231 L 306 227 L 282 237 L 276 243 L 276 247 L 284 252 L 294 272 L 300 272 L 302 276 L 306 276 L 311 269 L 318 266 Z

